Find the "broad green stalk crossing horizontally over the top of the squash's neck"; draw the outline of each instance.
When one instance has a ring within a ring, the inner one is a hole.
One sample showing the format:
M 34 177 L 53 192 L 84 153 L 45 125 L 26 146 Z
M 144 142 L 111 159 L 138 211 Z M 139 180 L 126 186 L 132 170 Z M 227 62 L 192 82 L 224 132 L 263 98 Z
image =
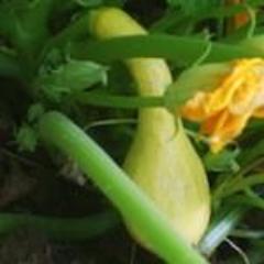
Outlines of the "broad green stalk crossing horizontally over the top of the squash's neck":
M 72 56 L 101 63 L 132 57 L 162 57 L 177 66 L 190 66 L 205 53 L 210 42 L 194 37 L 172 35 L 138 35 L 103 41 L 73 43 Z M 264 54 L 243 46 L 211 43 L 210 53 L 204 61 L 224 62 L 240 57 L 260 57 Z

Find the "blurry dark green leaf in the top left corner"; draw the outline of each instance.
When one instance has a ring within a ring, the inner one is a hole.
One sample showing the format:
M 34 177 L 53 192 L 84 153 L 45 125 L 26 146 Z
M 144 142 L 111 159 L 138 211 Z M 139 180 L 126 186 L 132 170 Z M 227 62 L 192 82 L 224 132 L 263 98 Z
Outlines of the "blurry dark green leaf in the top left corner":
M 6 0 L 0 2 L 0 31 L 23 53 L 38 51 L 47 33 L 52 0 Z

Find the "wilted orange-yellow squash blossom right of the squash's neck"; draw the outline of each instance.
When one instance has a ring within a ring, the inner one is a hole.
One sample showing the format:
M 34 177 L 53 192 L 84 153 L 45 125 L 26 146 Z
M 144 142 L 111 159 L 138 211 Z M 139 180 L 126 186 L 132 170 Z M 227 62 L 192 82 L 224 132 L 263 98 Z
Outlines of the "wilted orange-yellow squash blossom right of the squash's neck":
M 264 118 L 264 61 L 238 59 L 229 67 L 217 87 L 197 92 L 182 110 L 184 118 L 201 123 L 212 152 L 241 134 L 251 117 Z

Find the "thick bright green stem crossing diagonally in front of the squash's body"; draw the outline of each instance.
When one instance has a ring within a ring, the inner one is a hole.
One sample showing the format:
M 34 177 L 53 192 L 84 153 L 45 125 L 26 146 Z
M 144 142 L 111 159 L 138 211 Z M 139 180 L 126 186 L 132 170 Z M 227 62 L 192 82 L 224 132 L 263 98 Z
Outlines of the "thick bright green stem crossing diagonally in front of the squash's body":
M 46 113 L 40 121 L 40 133 L 46 142 L 56 145 L 78 163 L 167 263 L 207 263 L 175 233 L 164 215 L 129 176 L 69 119 L 58 112 Z

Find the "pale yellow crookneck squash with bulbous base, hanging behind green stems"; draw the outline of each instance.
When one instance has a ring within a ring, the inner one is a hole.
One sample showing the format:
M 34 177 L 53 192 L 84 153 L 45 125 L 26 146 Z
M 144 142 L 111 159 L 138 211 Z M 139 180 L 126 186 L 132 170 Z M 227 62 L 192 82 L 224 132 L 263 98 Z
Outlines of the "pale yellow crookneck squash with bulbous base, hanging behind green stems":
M 94 11 L 90 30 L 99 40 L 147 34 L 124 11 L 116 8 Z M 141 96 L 161 96 L 172 82 L 164 59 L 132 58 L 125 64 Z M 209 187 L 201 161 L 180 120 L 178 123 L 176 127 L 175 117 L 164 108 L 140 109 L 138 130 L 123 167 L 167 216 L 175 230 L 196 244 L 208 226 Z M 140 230 L 128 226 L 134 237 L 150 248 Z

